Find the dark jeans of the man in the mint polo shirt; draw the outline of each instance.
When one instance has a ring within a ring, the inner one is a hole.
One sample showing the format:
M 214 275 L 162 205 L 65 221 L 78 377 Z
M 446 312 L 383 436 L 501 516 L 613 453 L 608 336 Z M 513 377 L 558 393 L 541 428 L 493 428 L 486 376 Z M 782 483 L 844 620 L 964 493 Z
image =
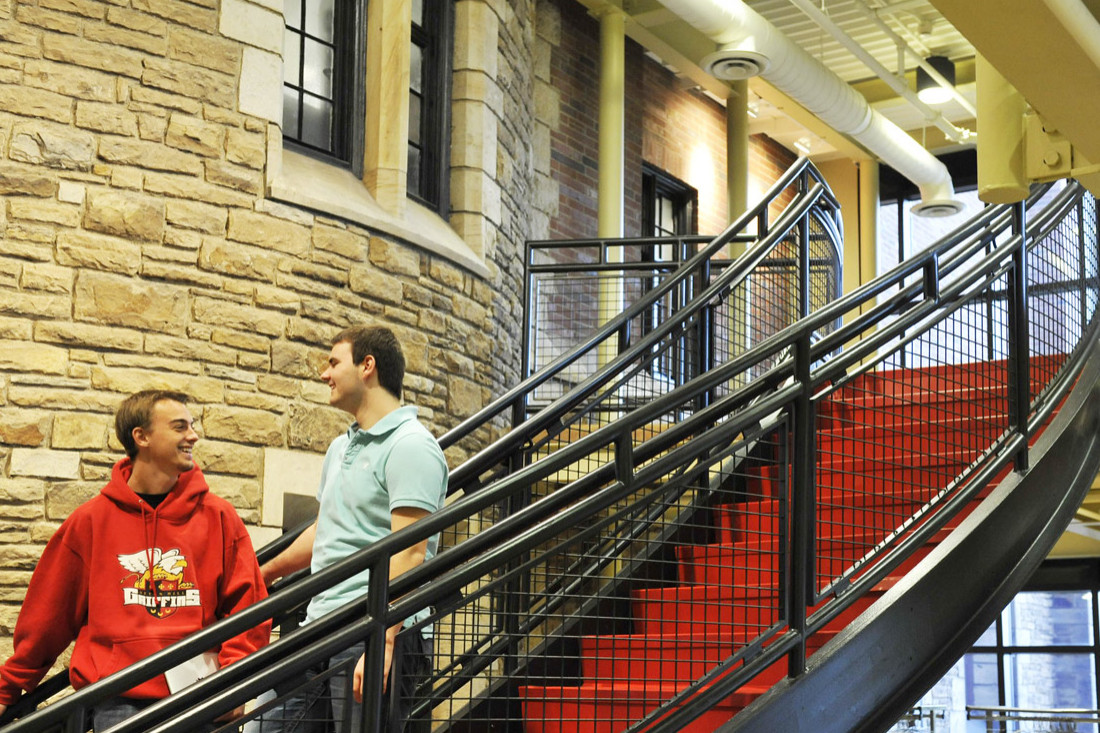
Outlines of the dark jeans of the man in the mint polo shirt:
M 343 667 L 346 671 L 307 687 L 264 713 L 262 733 L 359 731 L 363 705 L 352 696 L 351 674 L 363 648 L 362 644 L 356 644 L 333 655 L 329 669 Z M 427 733 L 429 716 L 417 721 L 410 721 L 409 716 L 417 686 L 431 674 L 431 639 L 410 632 L 397 636 L 378 733 Z

